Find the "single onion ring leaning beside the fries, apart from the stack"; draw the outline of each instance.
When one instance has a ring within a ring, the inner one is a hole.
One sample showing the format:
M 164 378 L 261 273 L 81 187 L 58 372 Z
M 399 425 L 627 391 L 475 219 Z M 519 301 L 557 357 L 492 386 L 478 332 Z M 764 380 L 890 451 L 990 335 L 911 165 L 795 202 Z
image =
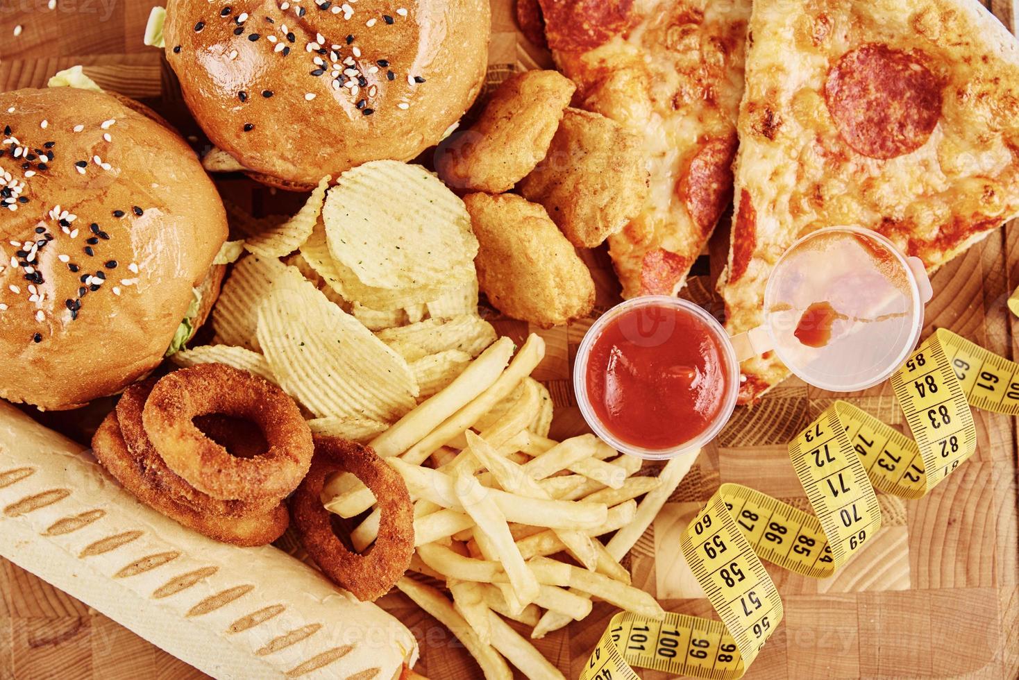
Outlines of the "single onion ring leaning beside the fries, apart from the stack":
M 375 544 L 362 555 L 351 552 L 332 530 L 322 505 L 322 487 L 334 472 L 351 472 L 378 499 L 382 517 Z M 369 447 L 315 438 L 311 471 L 290 499 L 293 525 L 305 550 L 337 585 L 362 602 L 377 600 L 399 580 L 414 553 L 414 506 L 403 477 Z

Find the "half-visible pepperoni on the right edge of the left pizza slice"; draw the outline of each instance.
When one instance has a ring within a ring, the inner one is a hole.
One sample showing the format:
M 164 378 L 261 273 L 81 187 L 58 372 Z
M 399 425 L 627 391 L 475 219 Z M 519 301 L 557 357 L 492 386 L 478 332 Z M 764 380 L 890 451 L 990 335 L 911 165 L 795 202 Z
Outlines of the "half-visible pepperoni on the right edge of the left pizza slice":
M 737 139 L 732 134 L 705 143 L 680 179 L 679 192 L 690 217 L 705 236 L 717 224 L 733 199 L 733 158 Z

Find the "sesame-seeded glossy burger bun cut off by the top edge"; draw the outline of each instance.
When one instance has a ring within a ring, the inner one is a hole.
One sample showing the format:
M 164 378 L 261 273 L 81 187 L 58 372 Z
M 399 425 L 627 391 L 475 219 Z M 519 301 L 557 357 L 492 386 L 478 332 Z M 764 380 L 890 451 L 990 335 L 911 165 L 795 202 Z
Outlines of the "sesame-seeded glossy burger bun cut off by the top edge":
M 301 190 L 437 144 L 481 90 L 490 29 L 488 0 L 170 0 L 163 37 L 212 143 Z

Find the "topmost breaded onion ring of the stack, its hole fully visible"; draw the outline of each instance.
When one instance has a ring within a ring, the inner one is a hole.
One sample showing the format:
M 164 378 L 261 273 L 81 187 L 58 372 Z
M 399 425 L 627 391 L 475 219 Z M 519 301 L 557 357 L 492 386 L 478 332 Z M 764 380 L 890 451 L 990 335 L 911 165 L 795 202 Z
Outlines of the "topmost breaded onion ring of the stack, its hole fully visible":
M 259 427 L 265 453 L 237 458 L 193 418 L 224 413 Z M 219 500 L 284 498 L 308 471 L 312 433 L 293 400 L 261 378 L 222 363 L 181 369 L 161 379 L 142 412 L 145 431 L 166 465 Z

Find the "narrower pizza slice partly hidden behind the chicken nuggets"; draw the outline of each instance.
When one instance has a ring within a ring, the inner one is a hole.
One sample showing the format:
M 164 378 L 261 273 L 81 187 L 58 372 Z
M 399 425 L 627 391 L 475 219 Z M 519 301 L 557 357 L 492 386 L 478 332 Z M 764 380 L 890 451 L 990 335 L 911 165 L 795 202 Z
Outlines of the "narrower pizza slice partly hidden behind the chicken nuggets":
M 624 297 L 676 294 L 733 190 L 750 0 L 541 0 L 575 103 L 637 133 L 639 215 L 608 238 Z

